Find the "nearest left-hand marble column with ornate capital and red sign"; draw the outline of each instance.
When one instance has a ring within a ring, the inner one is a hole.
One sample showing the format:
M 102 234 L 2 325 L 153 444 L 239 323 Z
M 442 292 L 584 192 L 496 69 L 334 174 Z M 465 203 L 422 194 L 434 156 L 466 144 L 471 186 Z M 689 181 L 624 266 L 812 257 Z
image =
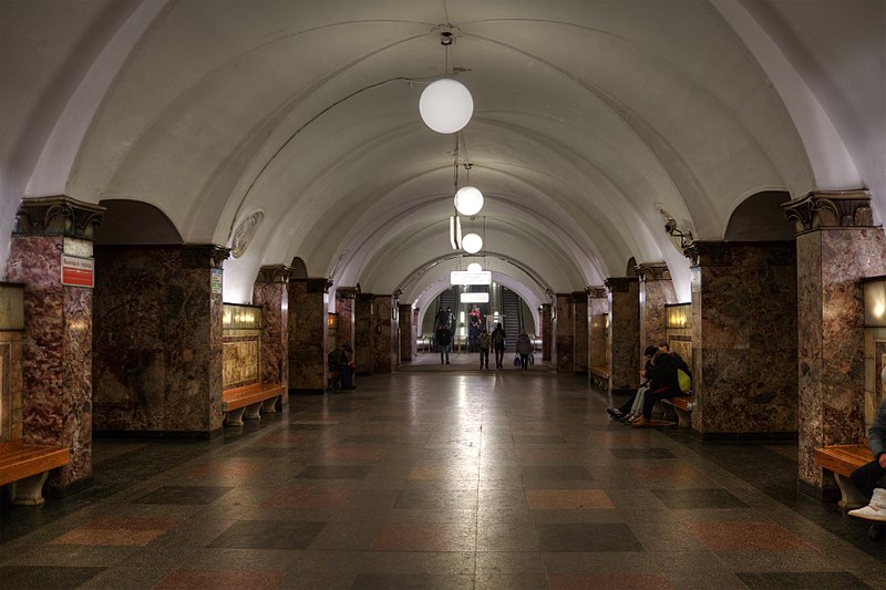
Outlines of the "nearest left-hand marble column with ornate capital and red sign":
M 7 280 L 24 283 L 22 438 L 71 451 L 47 482 L 51 495 L 92 477 L 92 239 L 103 215 L 65 196 L 24 199 L 10 244 Z M 76 266 L 87 280 L 63 280 Z

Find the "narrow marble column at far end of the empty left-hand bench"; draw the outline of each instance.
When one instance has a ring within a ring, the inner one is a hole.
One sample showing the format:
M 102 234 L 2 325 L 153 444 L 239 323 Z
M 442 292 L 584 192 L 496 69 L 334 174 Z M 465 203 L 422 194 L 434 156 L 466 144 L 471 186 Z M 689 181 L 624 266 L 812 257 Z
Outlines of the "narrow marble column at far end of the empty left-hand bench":
M 289 268 L 264 266 L 253 286 L 253 303 L 261 307 L 259 375 L 262 383 L 289 386 Z M 289 396 L 280 396 L 280 410 L 288 410 Z

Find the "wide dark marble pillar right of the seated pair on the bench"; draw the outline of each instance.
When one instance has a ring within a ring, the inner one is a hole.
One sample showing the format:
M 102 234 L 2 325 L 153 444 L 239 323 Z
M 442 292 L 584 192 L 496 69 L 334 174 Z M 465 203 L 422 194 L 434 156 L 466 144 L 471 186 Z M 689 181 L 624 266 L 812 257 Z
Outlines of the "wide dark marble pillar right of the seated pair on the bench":
M 692 429 L 702 438 L 796 432 L 796 271 L 792 242 L 697 241 Z

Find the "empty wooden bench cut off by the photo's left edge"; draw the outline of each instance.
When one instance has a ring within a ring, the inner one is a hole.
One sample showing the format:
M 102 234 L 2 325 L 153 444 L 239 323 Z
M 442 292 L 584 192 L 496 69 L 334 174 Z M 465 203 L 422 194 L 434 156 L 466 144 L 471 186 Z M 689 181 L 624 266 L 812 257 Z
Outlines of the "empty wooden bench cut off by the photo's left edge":
M 0 486 L 9 485 L 12 504 L 43 504 L 43 484 L 51 469 L 71 462 L 71 451 L 20 441 L 0 443 Z

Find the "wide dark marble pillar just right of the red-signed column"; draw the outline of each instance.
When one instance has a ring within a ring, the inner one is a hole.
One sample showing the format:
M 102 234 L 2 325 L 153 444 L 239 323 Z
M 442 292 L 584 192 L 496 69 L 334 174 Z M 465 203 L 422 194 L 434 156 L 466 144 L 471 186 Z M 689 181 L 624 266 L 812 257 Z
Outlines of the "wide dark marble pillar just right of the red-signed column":
M 212 245 L 96 246 L 94 424 L 106 435 L 222 429 L 222 262 Z

